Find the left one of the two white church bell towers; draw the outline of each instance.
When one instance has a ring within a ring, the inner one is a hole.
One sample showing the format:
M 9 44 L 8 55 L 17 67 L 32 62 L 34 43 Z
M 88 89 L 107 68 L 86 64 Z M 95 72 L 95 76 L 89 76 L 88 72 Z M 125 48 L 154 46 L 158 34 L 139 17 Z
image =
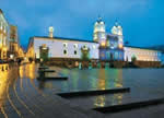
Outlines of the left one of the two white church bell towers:
M 101 46 L 106 45 L 105 23 L 103 22 L 101 16 L 94 24 L 93 40 L 99 43 Z

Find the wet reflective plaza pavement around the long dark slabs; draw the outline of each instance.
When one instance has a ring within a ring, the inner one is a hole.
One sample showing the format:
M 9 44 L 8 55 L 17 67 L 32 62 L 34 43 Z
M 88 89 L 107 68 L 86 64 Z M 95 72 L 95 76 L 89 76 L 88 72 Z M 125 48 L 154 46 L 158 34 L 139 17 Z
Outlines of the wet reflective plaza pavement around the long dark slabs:
M 3 67 L 3 69 L 2 69 Z M 69 76 L 68 81 L 37 81 L 35 63 L 17 67 L 0 64 L 0 118 L 87 118 L 162 117 L 164 105 L 101 114 L 94 107 L 164 97 L 164 69 L 61 69 L 47 76 Z M 131 87 L 129 93 L 62 98 L 57 93 Z

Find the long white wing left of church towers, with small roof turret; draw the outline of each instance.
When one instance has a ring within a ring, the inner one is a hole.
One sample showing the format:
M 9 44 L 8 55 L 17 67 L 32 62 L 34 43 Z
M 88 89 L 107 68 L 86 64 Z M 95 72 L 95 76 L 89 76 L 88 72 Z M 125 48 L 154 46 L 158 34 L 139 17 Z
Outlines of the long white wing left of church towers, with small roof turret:
M 32 37 L 28 44 L 27 57 L 39 59 L 40 57 L 48 57 L 51 59 L 68 59 L 80 60 L 82 58 L 82 50 L 89 50 L 89 58 L 91 60 L 98 60 L 98 43 L 92 40 L 51 37 L 54 28 L 49 28 L 48 36 Z

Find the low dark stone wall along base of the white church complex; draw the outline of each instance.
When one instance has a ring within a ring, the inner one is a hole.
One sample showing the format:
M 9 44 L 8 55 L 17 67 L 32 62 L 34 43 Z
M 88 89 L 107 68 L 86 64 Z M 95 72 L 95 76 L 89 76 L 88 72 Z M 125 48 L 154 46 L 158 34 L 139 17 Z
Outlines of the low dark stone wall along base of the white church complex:
M 79 68 L 81 63 L 82 68 L 160 68 L 161 62 L 159 61 L 134 61 L 134 62 L 126 62 L 126 61 L 99 61 L 90 60 L 90 61 L 81 61 L 78 59 L 58 59 L 58 60 L 49 60 L 46 62 L 47 66 L 58 66 L 65 68 Z

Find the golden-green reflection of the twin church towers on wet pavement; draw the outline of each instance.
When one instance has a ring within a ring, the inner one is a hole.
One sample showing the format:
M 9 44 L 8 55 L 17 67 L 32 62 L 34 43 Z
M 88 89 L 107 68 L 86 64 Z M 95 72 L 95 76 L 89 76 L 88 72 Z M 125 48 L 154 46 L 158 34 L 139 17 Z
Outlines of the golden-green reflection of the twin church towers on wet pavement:
M 112 80 L 114 78 L 114 81 Z M 112 84 L 113 83 L 113 84 Z M 122 70 L 105 70 L 101 69 L 98 72 L 97 88 L 105 90 L 110 87 L 122 87 Z M 108 99 L 106 99 L 108 98 Z M 110 97 L 105 95 L 98 95 L 94 99 L 94 105 L 97 107 L 104 107 L 106 101 L 109 101 L 113 105 L 122 103 L 122 93 L 114 94 Z

